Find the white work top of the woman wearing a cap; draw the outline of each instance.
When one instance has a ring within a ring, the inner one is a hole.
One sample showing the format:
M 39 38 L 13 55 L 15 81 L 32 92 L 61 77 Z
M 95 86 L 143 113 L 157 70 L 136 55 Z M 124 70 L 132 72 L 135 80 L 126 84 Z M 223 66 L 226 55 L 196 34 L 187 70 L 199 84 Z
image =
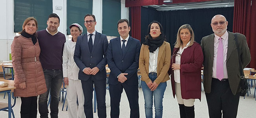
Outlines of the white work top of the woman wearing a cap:
M 74 61 L 74 51 L 76 42 L 69 40 L 65 42 L 63 49 L 63 77 L 68 77 L 69 79 L 78 80 L 79 68 Z

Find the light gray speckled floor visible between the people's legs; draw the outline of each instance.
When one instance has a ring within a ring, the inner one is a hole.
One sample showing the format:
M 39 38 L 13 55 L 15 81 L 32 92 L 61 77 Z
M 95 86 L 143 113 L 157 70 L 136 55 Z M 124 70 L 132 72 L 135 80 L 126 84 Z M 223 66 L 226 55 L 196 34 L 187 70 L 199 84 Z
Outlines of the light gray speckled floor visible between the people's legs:
M 249 97 L 243 99 L 240 97 L 239 108 L 237 118 L 256 118 L 256 101 L 253 98 L 254 88 L 251 89 L 251 94 Z M 6 102 L 7 99 L 3 99 L 4 94 L 0 94 L 0 102 Z M 12 101 L 13 102 L 13 101 Z M 20 98 L 17 98 L 17 103 L 13 108 L 14 114 L 16 118 L 20 118 Z M 65 103 L 66 104 L 66 103 Z M 59 118 L 68 118 L 67 111 L 61 111 L 63 103 L 59 103 Z M 107 90 L 106 95 L 106 106 L 107 106 L 107 118 L 110 118 L 110 99 L 109 99 L 109 92 Z M 139 89 L 139 107 L 140 107 L 140 116 L 141 118 L 145 118 L 145 111 L 144 111 L 144 98 L 142 89 Z M 66 105 L 64 109 L 66 108 Z M 50 110 L 50 108 L 49 108 Z M 125 92 L 122 94 L 121 103 L 120 103 L 120 118 L 129 118 L 130 116 L 130 108 L 129 103 L 126 97 Z M 0 111 L 0 118 L 7 118 L 7 112 Z M 50 115 L 49 115 L 50 117 Z M 97 112 L 94 113 L 94 117 L 98 118 Z M 208 116 L 208 108 L 206 104 L 206 98 L 204 92 L 202 92 L 202 100 L 195 101 L 195 117 L 196 118 L 209 118 Z M 37 118 L 39 118 L 39 113 L 37 114 Z M 179 109 L 178 103 L 176 99 L 173 98 L 172 90 L 171 90 L 171 83 L 167 81 L 167 89 L 165 91 L 165 95 L 163 98 L 163 118 L 179 118 Z

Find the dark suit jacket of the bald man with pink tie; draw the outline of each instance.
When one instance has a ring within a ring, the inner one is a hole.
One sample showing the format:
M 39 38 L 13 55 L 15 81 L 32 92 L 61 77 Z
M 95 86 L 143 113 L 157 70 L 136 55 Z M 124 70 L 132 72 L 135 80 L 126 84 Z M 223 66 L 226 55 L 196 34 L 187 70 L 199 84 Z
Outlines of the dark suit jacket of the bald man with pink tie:
M 245 68 L 250 63 L 250 50 L 247 45 L 245 35 L 240 33 L 237 34 L 237 41 L 242 61 L 242 68 Z M 236 47 L 235 33 L 228 31 L 228 51 L 226 59 L 226 67 L 228 71 L 228 82 L 232 93 L 235 95 L 241 91 L 240 85 L 240 71 L 239 71 L 239 60 Z M 214 34 L 203 37 L 201 40 L 201 47 L 204 54 L 204 90 L 206 93 L 211 92 L 211 78 L 212 78 L 212 66 L 213 66 L 213 48 L 214 48 Z

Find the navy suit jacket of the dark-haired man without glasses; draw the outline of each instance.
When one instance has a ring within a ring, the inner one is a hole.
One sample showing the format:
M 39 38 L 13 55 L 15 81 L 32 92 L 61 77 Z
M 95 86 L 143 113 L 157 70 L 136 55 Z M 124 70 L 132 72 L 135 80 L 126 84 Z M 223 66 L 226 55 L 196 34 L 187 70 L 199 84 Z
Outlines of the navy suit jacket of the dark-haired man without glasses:
M 140 48 L 139 40 L 129 37 L 123 54 L 120 37 L 110 40 L 107 54 L 108 67 L 111 70 L 109 74 L 110 84 L 117 85 L 119 83 L 117 76 L 121 73 L 128 73 L 124 83 L 132 86 L 138 85 L 137 70 L 139 68 Z

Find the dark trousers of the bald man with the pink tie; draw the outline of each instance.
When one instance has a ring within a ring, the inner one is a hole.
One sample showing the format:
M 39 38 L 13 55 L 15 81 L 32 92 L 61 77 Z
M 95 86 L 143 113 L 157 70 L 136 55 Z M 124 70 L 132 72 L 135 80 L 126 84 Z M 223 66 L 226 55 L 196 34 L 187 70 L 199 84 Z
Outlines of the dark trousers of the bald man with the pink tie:
M 236 118 L 239 92 L 232 94 L 228 81 L 212 78 L 211 92 L 205 95 L 210 118 Z

